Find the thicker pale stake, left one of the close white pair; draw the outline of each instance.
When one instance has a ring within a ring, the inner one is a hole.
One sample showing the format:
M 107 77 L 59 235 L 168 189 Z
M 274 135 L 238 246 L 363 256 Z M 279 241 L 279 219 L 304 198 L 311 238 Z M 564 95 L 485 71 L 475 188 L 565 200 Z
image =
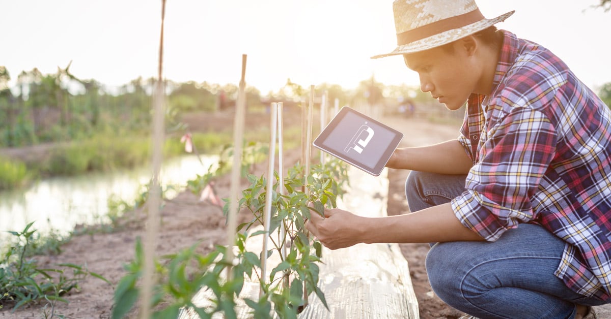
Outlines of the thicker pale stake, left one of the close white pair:
M 263 216 L 263 249 L 261 251 L 261 287 L 259 298 L 263 295 L 263 285 L 267 279 L 267 251 L 269 240 L 269 224 L 271 223 L 271 201 L 274 192 L 274 159 L 276 158 L 276 131 L 278 108 L 277 103 L 273 102 L 269 108 L 271 111 L 271 122 L 269 126 L 269 157 L 268 157 L 268 180 L 265 193 L 265 215 Z

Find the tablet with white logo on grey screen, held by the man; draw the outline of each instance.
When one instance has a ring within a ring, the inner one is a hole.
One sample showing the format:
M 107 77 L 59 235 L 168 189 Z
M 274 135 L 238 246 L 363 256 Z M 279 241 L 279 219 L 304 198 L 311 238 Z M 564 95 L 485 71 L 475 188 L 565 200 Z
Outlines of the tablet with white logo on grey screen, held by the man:
M 373 176 L 379 176 L 401 138 L 403 133 L 345 106 L 312 144 Z

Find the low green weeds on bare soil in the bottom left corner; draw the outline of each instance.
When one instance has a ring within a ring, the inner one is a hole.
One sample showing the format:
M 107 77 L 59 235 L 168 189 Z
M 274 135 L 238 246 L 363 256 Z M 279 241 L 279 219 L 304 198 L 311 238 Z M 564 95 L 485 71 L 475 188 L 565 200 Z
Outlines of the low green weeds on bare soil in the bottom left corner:
M 11 245 L 0 259 L 0 305 L 11 305 L 15 310 L 24 304 L 43 301 L 51 306 L 53 314 L 56 302 L 67 303 L 62 296 L 71 290 L 78 290 L 79 282 L 87 276 L 111 284 L 100 274 L 80 265 L 62 263 L 57 265 L 57 268 L 40 268 L 35 259 L 27 259 L 28 254 L 37 249 L 31 249 L 36 232 L 31 230 L 33 223 L 27 224 L 21 232 L 10 232 L 16 237 L 16 243 Z M 68 271 L 72 272 L 71 276 L 66 274 Z

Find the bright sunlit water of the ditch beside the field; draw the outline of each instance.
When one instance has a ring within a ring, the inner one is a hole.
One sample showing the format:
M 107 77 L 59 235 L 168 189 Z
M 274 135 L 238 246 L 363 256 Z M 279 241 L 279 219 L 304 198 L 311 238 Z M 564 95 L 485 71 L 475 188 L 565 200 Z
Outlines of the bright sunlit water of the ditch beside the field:
M 218 162 L 218 157 L 203 156 L 202 162 L 204 165 L 196 156 L 167 160 L 161 169 L 161 183 L 185 187 L 196 174 L 204 174 L 211 164 Z M 5 231 L 22 231 L 32 221 L 32 228 L 44 234 L 50 230 L 67 233 L 76 224 L 103 220 L 111 196 L 133 203 L 140 186 L 148 184 L 151 175 L 151 168 L 145 167 L 54 177 L 26 189 L 0 192 L 0 239 L 7 237 Z

